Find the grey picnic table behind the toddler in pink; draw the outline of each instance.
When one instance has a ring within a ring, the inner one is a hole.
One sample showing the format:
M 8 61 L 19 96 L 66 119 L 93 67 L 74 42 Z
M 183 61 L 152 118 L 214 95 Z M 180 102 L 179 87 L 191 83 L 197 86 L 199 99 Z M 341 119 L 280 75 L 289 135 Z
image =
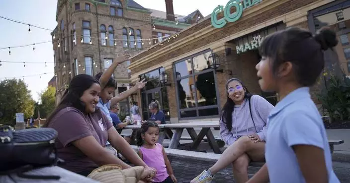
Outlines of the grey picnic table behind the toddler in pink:
M 171 124 L 160 124 L 160 134 L 158 143 L 162 144 L 164 139 L 168 137 L 170 140 L 169 147 L 170 149 L 177 149 L 181 145 L 189 145 L 190 150 L 196 150 L 203 138 L 206 136 L 207 141 L 209 142 L 210 148 L 214 151 L 214 153 L 221 154 L 220 147 L 215 139 L 211 127 L 218 128 L 219 122 L 211 122 L 211 121 L 202 121 L 202 122 L 186 122 L 186 123 L 171 123 Z M 123 129 L 133 129 L 132 136 L 136 134 L 135 129 L 140 129 L 141 125 L 127 125 Z M 200 132 L 197 134 L 194 128 L 201 128 Z M 173 133 L 172 129 L 175 130 Z M 180 144 L 180 139 L 183 130 L 186 129 L 188 134 L 191 137 L 192 143 L 189 144 Z M 132 143 L 134 144 L 134 143 Z

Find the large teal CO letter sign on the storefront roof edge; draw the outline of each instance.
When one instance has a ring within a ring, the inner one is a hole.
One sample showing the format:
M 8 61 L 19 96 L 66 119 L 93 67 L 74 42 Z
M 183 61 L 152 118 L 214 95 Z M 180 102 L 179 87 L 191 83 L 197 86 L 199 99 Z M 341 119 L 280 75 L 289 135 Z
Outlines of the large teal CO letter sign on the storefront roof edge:
M 226 6 L 219 5 L 211 13 L 211 24 L 215 28 L 221 28 L 226 25 L 227 22 L 235 22 L 241 18 L 243 10 L 249 8 L 255 4 L 260 3 L 262 0 L 229 0 Z M 231 13 L 231 8 L 235 7 L 236 11 Z M 218 20 L 217 16 L 220 12 L 224 11 L 224 17 Z

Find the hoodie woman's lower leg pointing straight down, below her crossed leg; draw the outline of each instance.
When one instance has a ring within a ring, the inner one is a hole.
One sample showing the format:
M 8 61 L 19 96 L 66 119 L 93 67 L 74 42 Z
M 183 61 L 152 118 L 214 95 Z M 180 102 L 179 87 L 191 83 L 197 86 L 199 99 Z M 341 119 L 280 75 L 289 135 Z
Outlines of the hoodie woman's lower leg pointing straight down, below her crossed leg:
M 235 183 L 246 183 L 248 181 L 248 165 L 250 162 L 249 156 L 244 153 L 232 162 L 233 178 Z

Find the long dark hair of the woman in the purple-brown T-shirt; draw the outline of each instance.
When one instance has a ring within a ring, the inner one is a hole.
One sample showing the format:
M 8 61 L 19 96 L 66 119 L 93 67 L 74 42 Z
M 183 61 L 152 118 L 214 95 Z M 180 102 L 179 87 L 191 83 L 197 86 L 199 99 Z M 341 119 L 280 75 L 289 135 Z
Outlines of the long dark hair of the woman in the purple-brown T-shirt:
M 47 118 L 44 127 L 48 127 L 52 118 L 63 108 L 74 107 L 80 110 L 82 113 L 86 113 L 85 104 L 80 100 L 80 97 L 82 97 L 84 91 L 89 89 L 94 83 L 99 84 L 99 82 L 90 75 L 79 74 L 74 76 L 71 80 L 71 83 L 69 84 L 68 89 L 62 96 L 61 102 Z M 96 110 L 98 109 L 96 108 Z

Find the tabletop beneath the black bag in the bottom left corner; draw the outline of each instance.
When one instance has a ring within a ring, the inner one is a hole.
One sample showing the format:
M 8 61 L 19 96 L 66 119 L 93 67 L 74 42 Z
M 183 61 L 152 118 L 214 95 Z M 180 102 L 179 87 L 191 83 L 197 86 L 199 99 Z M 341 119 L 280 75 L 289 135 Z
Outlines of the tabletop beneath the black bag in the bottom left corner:
M 11 174 L 10 176 L 0 176 L 0 183 L 14 183 L 13 180 L 16 183 L 99 183 L 98 181 L 92 180 L 90 178 L 84 177 L 82 175 L 76 174 L 74 172 L 68 171 L 57 166 L 38 168 L 30 170 L 24 174 L 40 176 L 60 176 L 61 178 L 58 180 L 27 179 L 20 178 L 16 174 Z

